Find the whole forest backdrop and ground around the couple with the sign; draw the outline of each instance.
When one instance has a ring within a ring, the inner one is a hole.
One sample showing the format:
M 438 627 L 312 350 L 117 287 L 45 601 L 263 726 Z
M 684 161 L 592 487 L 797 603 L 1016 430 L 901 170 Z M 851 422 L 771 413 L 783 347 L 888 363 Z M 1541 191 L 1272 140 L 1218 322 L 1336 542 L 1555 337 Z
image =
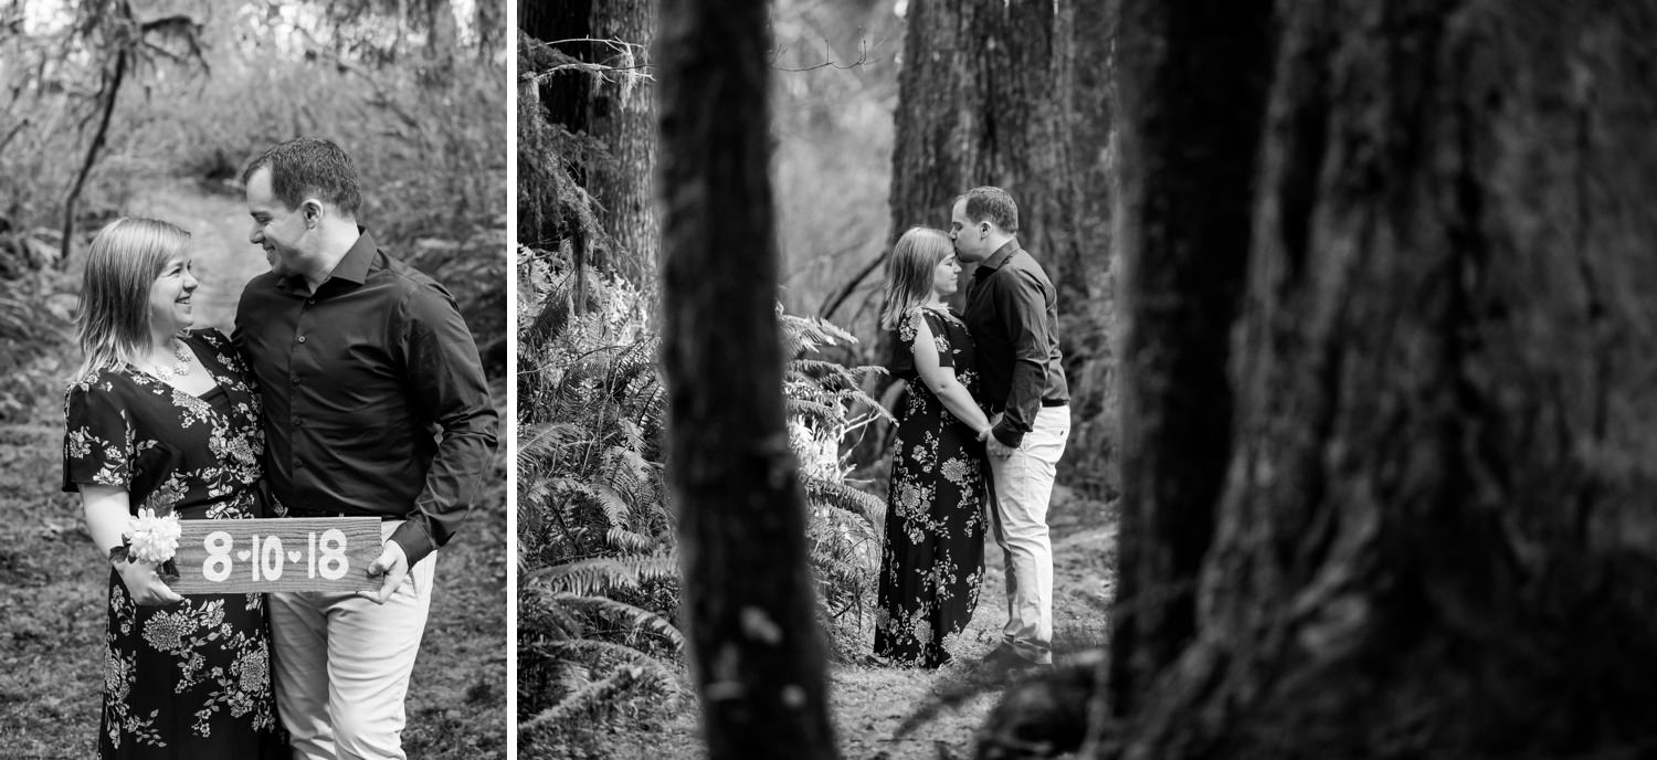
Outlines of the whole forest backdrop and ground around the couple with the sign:
M 119 215 L 192 232 L 197 325 L 247 278 L 239 174 L 313 134 L 351 154 L 363 224 L 446 283 L 505 402 L 505 7 L 499 2 L 0 2 L 0 745 L 86 757 L 104 573 L 60 493 L 80 257 Z M 504 455 L 497 475 L 504 483 Z M 504 757 L 505 488 L 442 553 L 409 695 L 416 757 Z

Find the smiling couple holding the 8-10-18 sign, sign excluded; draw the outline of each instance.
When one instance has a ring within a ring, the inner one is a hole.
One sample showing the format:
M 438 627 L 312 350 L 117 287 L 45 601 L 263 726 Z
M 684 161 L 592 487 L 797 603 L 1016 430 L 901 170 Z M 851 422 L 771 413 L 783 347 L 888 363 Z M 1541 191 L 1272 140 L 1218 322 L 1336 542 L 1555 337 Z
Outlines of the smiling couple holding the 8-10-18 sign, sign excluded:
M 401 758 L 436 551 L 497 414 L 454 298 L 356 225 L 338 146 L 278 144 L 242 180 L 272 272 L 230 338 L 192 329 L 186 230 L 121 219 L 86 255 L 63 488 L 111 565 L 98 755 Z M 181 596 L 152 530 L 174 517 L 376 517 L 379 588 Z

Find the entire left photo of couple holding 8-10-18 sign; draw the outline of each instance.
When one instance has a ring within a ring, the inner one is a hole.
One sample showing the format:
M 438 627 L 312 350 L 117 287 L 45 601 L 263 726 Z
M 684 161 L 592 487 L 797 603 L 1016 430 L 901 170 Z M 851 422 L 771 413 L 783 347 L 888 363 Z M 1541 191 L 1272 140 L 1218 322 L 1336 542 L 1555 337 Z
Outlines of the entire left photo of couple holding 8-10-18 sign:
M 0 0 L 0 755 L 509 755 L 509 50 Z

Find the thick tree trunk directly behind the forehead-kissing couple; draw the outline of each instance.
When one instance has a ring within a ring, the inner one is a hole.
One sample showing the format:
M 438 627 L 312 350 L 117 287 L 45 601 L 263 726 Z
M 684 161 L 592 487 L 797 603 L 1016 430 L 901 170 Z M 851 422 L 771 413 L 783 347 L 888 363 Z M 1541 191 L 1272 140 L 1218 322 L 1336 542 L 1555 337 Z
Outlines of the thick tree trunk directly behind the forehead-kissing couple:
M 1114 3 L 910 2 L 890 194 L 891 243 L 913 225 L 948 228 L 954 197 L 971 187 L 1012 194 L 1019 242 L 1059 291 L 1074 422 L 1060 480 L 1100 497 L 1115 490 L 1117 439 L 1102 98 Z M 963 286 L 953 303 L 964 300 Z M 877 356 L 885 361 L 885 336 Z

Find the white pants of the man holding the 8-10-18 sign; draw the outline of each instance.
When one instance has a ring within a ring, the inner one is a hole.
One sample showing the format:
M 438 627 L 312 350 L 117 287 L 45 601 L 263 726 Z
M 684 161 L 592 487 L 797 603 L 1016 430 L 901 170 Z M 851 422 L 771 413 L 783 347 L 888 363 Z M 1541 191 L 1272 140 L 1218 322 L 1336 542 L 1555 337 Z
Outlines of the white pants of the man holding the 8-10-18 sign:
M 381 538 L 403 525 L 381 523 Z M 431 609 L 423 558 L 386 599 L 350 593 L 270 594 L 277 712 L 297 760 L 403 760 L 403 700 Z

